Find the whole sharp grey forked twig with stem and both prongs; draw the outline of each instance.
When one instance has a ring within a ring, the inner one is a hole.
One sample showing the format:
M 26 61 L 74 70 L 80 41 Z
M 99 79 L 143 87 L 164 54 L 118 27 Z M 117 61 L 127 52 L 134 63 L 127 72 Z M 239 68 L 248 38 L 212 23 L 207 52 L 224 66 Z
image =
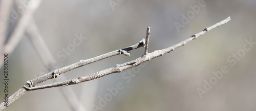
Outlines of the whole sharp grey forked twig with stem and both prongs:
M 110 53 L 106 53 L 106 54 L 103 54 L 103 55 L 100 55 L 100 56 L 97 56 L 97 57 L 94 57 L 94 58 L 91 58 L 91 59 L 80 60 L 77 63 L 71 64 L 71 65 L 66 66 L 64 68 L 55 70 L 55 71 L 50 72 L 46 75 L 43 75 L 41 77 L 35 78 L 31 81 L 28 81 L 28 83 L 24 87 L 20 88 L 16 93 L 14 93 L 11 97 L 8 98 L 8 100 L 9 100 L 8 105 L 11 104 L 16 99 L 18 99 L 23 94 L 25 94 L 27 91 L 33 91 L 33 90 L 39 90 L 39 89 L 43 89 L 43 88 L 50 88 L 50 87 L 57 87 L 57 86 L 67 86 L 67 85 L 72 85 L 72 84 L 78 84 L 78 83 L 81 83 L 81 82 L 97 79 L 97 78 L 100 78 L 100 77 L 103 77 L 103 76 L 106 76 L 106 75 L 109 75 L 109 74 L 118 73 L 118 72 L 122 72 L 124 70 L 130 69 L 130 68 L 132 68 L 134 66 L 137 66 L 137 65 L 139 65 L 139 64 L 141 64 L 145 61 L 149 61 L 151 59 L 154 59 L 156 57 L 159 57 L 159 56 L 162 56 L 166 53 L 169 53 L 170 51 L 173 51 L 173 50 L 175 50 L 175 49 L 177 49 L 181 46 L 184 46 L 187 42 L 197 39 L 199 36 L 205 34 L 206 32 L 208 32 L 208 31 L 210 31 L 210 30 L 212 30 L 216 27 L 219 27 L 223 24 L 226 24 L 229 20 L 230 20 L 230 17 L 220 21 L 219 23 L 217 23 L 213 26 L 205 28 L 203 31 L 190 36 L 189 38 L 185 39 L 184 41 L 181 41 L 181 42 L 177 43 L 176 45 L 174 45 L 172 47 L 168 47 L 168 48 L 165 48 L 165 49 L 162 49 L 162 50 L 157 50 L 157 51 L 154 51 L 152 53 L 147 53 L 148 38 L 149 38 L 149 35 L 150 35 L 150 28 L 148 27 L 147 28 L 147 34 L 146 34 L 146 39 L 147 40 L 142 39 L 136 45 L 133 45 L 133 46 L 127 47 L 127 48 L 123 48 L 123 49 L 120 49 L 120 50 L 116 50 L 116 51 L 113 51 L 113 52 L 110 52 Z M 146 41 L 146 43 L 145 43 L 145 41 Z M 37 84 L 39 84 L 41 82 L 44 82 L 46 80 L 58 77 L 62 73 L 68 72 L 70 70 L 79 68 L 80 66 L 83 66 L 83 65 L 95 62 L 95 61 L 102 60 L 104 58 L 108 58 L 108 57 L 111 57 L 111 56 L 114 56 L 114 55 L 119 55 L 119 54 L 124 54 L 124 55 L 129 56 L 130 54 L 127 53 L 127 51 L 131 51 L 133 49 L 137 49 L 137 48 L 143 47 L 143 46 L 145 46 L 144 55 L 135 59 L 135 60 L 125 62 L 123 64 L 117 64 L 116 66 L 114 66 L 112 68 L 102 70 L 102 71 L 99 71 L 97 73 L 85 76 L 85 77 L 79 77 L 79 78 L 74 78 L 74 79 L 70 79 L 70 80 L 66 80 L 66 81 L 55 82 L 55 83 L 52 83 L 52 84 L 36 86 Z M 5 104 L 4 102 L 0 104 L 0 110 L 5 108 L 4 104 Z

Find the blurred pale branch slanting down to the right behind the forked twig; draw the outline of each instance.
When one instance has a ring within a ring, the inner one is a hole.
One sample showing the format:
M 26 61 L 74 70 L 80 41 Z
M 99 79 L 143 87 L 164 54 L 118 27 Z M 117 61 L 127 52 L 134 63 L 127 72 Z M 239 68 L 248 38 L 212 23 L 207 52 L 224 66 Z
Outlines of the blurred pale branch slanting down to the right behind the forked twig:
M 27 34 L 29 35 L 28 38 L 31 42 L 31 45 L 37 52 L 37 55 L 39 56 L 41 62 L 45 66 L 49 66 L 52 61 L 54 60 L 53 55 L 51 54 L 49 48 L 47 47 L 44 39 L 42 38 L 41 34 L 39 33 L 39 30 L 35 24 L 34 19 L 32 18 L 30 21 L 30 25 L 27 28 Z M 61 76 L 62 80 L 67 80 L 67 77 L 65 75 Z M 53 79 L 55 82 L 57 82 L 56 79 Z M 59 88 L 61 94 L 63 97 L 66 98 L 68 103 L 70 104 L 70 108 L 76 111 L 85 110 L 84 106 L 78 99 L 77 95 L 75 94 L 72 87 L 70 88 Z M 88 100 L 89 98 L 87 98 Z

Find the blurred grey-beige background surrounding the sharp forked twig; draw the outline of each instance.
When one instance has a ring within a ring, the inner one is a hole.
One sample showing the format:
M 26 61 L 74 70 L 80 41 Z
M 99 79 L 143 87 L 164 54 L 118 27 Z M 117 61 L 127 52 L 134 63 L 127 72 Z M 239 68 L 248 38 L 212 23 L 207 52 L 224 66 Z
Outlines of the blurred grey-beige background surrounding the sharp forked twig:
M 0 1 L 1 76 L 8 95 L 81 59 L 132 46 L 151 27 L 148 52 L 231 20 L 135 68 L 66 87 L 27 92 L 4 110 L 256 110 L 256 1 Z M 134 60 L 118 55 L 42 84 L 78 78 Z M 218 72 L 218 74 L 215 74 Z

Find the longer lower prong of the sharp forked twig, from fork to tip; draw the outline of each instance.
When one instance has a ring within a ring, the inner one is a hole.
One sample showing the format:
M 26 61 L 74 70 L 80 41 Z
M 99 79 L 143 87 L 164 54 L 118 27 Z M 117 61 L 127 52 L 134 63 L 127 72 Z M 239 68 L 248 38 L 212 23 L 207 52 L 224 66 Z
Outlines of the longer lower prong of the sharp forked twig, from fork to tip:
M 217 23 L 213 26 L 205 28 L 203 31 L 190 36 L 189 38 L 185 39 L 184 41 L 181 41 L 181 42 L 177 43 L 176 45 L 174 45 L 172 47 L 168 47 L 168 48 L 165 48 L 165 49 L 162 49 L 162 50 L 157 50 L 157 51 L 154 51 L 152 53 L 148 53 L 147 55 L 139 57 L 139 58 L 137 58 L 133 61 L 125 62 L 125 63 L 120 64 L 118 66 L 114 66 L 112 68 L 102 70 L 102 71 L 99 71 L 97 73 L 85 76 L 85 77 L 79 77 L 79 78 L 74 78 L 74 79 L 70 79 L 70 80 L 66 80 L 66 81 L 55 82 L 55 83 L 52 83 L 52 84 L 46 84 L 46 85 L 40 85 L 40 86 L 34 86 L 34 87 L 27 87 L 27 88 L 30 91 L 32 91 L 32 90 L 39 90 L 39 89 L 44 89 L 44 88 L 67 86 L 67 85 L 72 85 L 72 84 L 78 84 L 78 83 L 85 82 L 85 81 L 90 81 L 90 80 L 97 79 L 97 78 L 100 78 L 100 77 L 103 77 L 103 76 L 106 76 L 106 75 L 109 75 L 109 74 L 122 72 L 122 71 L 130 69 L 134 66 L 137 66 L 137 65 L 139 65 L 139 64 L 141 64 L 145 61 L 149 61 L 151 59 L 154 59 L 156 57 L 159 57 L 159 56 L 162 56 L 166 53 L 169 53 L 170 51 L 173 51 L 173 50 L 175 50 L 175 49 L 177 49 L 181 46 L 184 46 L 189 41 L 197 39 L 199 36 L 205 34 L 206 32 L 227 23 L 229 20 L 230 20 L 230 17 L 220 21 L 219 23 Z

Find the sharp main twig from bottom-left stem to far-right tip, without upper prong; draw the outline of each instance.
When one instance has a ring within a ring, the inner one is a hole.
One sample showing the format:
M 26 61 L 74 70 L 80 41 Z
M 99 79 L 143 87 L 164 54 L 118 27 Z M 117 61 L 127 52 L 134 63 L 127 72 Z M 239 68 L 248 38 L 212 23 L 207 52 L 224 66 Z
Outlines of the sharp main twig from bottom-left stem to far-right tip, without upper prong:
M 163 50 L 158 50 L 158 51 L 154 51 L 150 54 L 147 54 L 146 56 L 143 56 L 143 57 L 139 57 L 133 61 L 130 61 L 130 62 L 126 62 L 126 63 L 123 63 L 121 65 L 118 65 L 118 66 L 115 66 L 113 68 L 110 68 L 110 69 L 107 69 L 107 70 L 103 70 L 103 71 L 100 71 L 100 72 L 97 72 L 97 73 L 94 73 L 94 74 L 91 74 L 89 76 L 86 76 L 86 77 L 80 77 L 80 78 L 77 78 L 77 79 L 71 79 L 71 80 L 67 80 L 67 81 L 63 81 L 63 82 L 57 82 L 57 83 L 53 83 L 52 86 L 62 86 L 63 85 L 70 85 L 70 84 L 78 84 L 80 82 L 84 82 L 84 81 L 88 81 L 88 80 L 93 80 L 93 79 L 96 79 L 96 78 L 99 78 L 99 77 L 103 77 L 105 75 L 108 75 L 108 74 L 112 74 L 112 73 L 117 73 L 117 72 L 121 72 L 121 71 L 124 71 L 126 69 L 129 69 L 129 68 L 132 68 L 133 66 L 137 66 L 139 65 L 140 63 L 142 62 L 145 62 L 145 61 L 148 61 L 150 59 L 153 59 L 153 58 L 156 58 L 156 57 L 159 57 L 159 56 L 162 56 L 163 54 L 166 54 L 170 51 L 173 51 L 174 49 L 177 49 L 181 46 L 184 46 L 187 42 L 191 41 L 191 40 L 194 40 L 196 38 L 198 38 L 199 36 L 205 34 L 206 32 L 220 26 L 220 25 L 223 25 L 225 23 L 227 23 L 228 21 L 230 20 L 230 17 L 222 20 L 220 23 L 217 23 L 209 28 L 205 28 L 203 31 L 197 33 L 197 34 L 194 34 L 193 36 L 187 38 L 186 40 L 178 43 L 177 45 L 174 45 L 172 47 L 169 47 L 169 48 L 166 48 L 166 49 L 163 49 Z M 143 43 L 144 45 L 144 43 Z M 122 49 L 123 50 L 123 49 Z M 105 71 L 105 72 L 104 72 Z M 46 75 L 50 75 L 50 76 L 45 76 L 45 77 L 49 77 L 49 78 L 46 78 L 46 79 L 51 79 L 52 74 L 53 72 L 51 73 L 48 73 Z M 26 86 L 28 86 L 28 84 L 26 84 Z M 41 86 L 42 87 L 42 86 Z M 30 87 L 31 90 L 35 90 L 36 87 Z M 45 88 L 48 88 L 48 87 L 45 87 Z M 37 89 L 38 90 L 38 89 Z M 12 96 L 10 96 L 8 98 L 8 105 L 11 104 L 13 101 L 15 101 L 16 99 L 18 99 L 20 96 L 22 96 L 23 94 L 25 94 L 27 92 L 27 90 L 22 87 L 20 88 L 17 92 L 15 92 Z M 4 109 L 6 106 L 4 106 L 4 102 L 0 104 L 0 110 Z

